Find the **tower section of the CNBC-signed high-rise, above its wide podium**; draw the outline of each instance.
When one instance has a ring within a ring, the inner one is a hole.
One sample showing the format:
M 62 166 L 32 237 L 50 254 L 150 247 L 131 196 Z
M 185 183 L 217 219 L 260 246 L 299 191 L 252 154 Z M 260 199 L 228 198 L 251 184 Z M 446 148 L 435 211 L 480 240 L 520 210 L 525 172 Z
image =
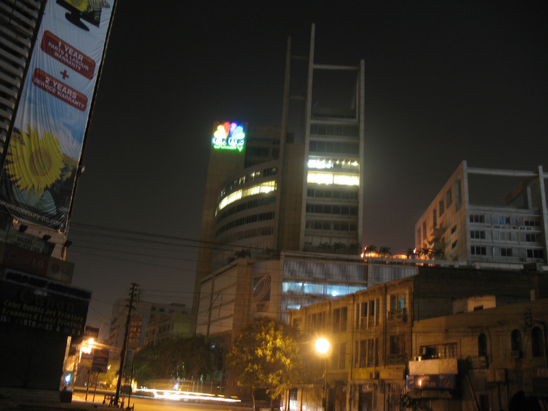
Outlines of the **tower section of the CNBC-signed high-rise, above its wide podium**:
M 282 126 L 242 124 L 245 143 L 233 149 L 223 149 L 230 148 L 229 144 L 223 147 L 221 140 L 213 140 L 195 310 L 201 280 L 234 258 L 269 259 L 279 257 L 282 251 L 360 251 L 364 63 L 337 66 L 314 62 L 314 26 L 304 88 L 289 81 L 293 66 L 303 63 L 295 57 L 289 40 Z M 323 82 L 316 91 L 314 76 L 319 72 L 353 77 L 352 88 L 340 90 L 341 95 L 349 96 L 344 105 L 334 103 L 332 96 L 321 90 Z M 215 122 L 212 134 L 219 125 L 229 140 L 238 124 L 231 130 L 230 123 L 223 127 Z M 236 138 L 233 141 L 236 144 Z

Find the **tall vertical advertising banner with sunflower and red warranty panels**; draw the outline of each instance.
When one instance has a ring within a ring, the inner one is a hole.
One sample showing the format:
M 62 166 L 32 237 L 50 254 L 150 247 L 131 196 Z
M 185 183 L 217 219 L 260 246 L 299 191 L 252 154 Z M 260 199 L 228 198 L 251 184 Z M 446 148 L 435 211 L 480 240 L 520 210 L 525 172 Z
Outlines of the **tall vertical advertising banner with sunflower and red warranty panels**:
M 0 181 L 18 219 L 66 228 L 114 1 L 47 1 Z

